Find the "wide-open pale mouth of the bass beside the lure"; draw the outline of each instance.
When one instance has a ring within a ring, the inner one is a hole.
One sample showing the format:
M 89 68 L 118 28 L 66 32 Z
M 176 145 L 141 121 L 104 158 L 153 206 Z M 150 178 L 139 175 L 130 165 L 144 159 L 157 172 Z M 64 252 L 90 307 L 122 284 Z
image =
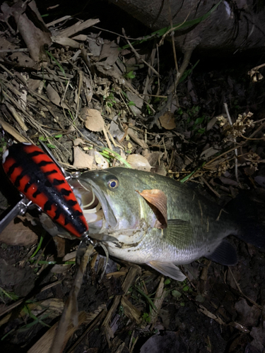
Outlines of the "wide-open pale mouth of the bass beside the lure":
M 117 225 L 116 217 L 100 187 L 90 180 L 78 178 L 71 181 L 73 193 L 88 222 L 89 233 L 106 232 Z

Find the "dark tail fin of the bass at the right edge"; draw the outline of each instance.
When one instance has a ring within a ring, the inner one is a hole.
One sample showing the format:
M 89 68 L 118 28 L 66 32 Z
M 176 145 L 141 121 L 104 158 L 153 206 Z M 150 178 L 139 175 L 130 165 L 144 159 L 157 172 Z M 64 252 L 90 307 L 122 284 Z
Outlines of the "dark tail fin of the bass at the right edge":
M 235 217 L 240 232 L 237 237 L 246 243 L 265 248 L 265 190 L 242 191 L 228 203 L 228 213 Z

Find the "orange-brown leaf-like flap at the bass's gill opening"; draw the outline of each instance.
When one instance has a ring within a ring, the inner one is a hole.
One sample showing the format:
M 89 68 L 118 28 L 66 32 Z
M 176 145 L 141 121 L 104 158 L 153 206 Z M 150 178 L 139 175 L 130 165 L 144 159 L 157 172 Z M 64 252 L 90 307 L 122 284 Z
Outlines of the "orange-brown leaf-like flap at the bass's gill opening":
M 137 191 L 137 190 L 136 190 Z M 137 191 L 152 208 L 155 217 L 158 219 L 155 227 L 165 229 L 167 227 L 167 196 L 158 189 Z

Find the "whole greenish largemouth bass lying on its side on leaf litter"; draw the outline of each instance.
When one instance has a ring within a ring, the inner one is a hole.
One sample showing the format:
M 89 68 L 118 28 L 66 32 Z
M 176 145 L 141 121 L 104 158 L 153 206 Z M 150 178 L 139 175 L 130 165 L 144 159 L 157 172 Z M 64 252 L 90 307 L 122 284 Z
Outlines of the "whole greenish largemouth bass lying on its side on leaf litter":
M 264 246 L 264 225 L 257 226 L 250 214 L 245 222 L 245 208 L 233 211 L 242 201 L 222 210 L 186 184 L 122 167 L 85 172 L 78 181 L 74 192 L 90 237 L 93 232 L 114 237 L 117 241 L 105 243 L 110 255 L 145 263 L 175 280 L 185 278 L 176 265 L 202 256 L 235 265 L 236 250 L 224 239 L 230 234 Z

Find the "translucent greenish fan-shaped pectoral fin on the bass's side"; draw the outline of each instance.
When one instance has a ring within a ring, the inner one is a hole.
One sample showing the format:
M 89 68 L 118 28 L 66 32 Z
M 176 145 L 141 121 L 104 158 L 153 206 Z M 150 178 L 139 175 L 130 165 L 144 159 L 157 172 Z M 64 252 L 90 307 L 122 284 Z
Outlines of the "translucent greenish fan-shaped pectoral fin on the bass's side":
M 168 220 L 163 239 L 173 246 L 187 246 L 194 238 L 192 225 L 184 220 Z

